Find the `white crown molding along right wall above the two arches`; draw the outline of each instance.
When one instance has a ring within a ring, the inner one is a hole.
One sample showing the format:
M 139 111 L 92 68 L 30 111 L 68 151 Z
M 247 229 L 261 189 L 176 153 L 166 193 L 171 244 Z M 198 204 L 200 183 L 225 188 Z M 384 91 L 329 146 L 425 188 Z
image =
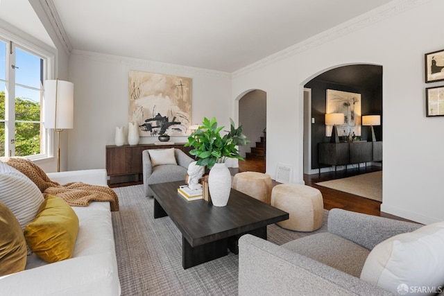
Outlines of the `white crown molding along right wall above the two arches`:
M 273 53 L 272 55 L 268 55 L 268 57 L 259 60 L 257 62 L 253 62 L 253 64 L 249 64 L 246 67 L 243 67 L 237 71 L 232 72 L 232 77 L 236 78 L 239 76 L 246 75 L 252 71 L 256 71 L 257 69 L 261 69 L 263 67 L 268 66 L 269 64 L 273 64 L 274 62 L 278 62 L 280 60 L 284 60 L 286 58 L 290 58 L 293 55 L 297 55 L 298 53 L 302 53 L 303 51 L 307 51 L 309 49 L 313 49 L 316 46 L 321 44 L 325 44 L 336 38 L 343 37 L 344 35 L 348 35 L 354 31 L 358 31 L 361 28 L 365 28 L 366 26 L 370 26 L 372 24 L 377 23 L 378 21 L 382 21 L 384 19 L 388 19 L 395 15 L 398 15 L 404 11 L 410 10 L 411 8 L 415 8 L 417 6 L 422 5 L 423 3 L 429 2 L 431 0 L 395 0 L 387 3 L 386 5 L 379 6 L 374 10 L 370 10 L 369 12 L 360 15 L 359 17 L 355 17 L 354 19 L 350 19 L 350 21 L 345 21 L 343 24 L 339 24 L 338 26 L 334 26 L 333 28 L 328 29 L 327 31 L 323 31 L 318 35 L 310 37 L 307 40 L 302 42 L 298 42 L 293 46 L 287 47 L 287 49 L 283 49 L 282 51 L 278 51 L 277 53 Z

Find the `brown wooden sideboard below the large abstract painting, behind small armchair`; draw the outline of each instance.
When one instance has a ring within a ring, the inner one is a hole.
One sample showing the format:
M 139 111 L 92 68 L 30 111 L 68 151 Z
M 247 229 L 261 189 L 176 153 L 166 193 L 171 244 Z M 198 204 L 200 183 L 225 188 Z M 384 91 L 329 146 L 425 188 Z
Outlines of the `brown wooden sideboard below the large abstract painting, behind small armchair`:
M 178 148 L 189 155 L 189 150 L 191 150 L 192 147 L 184 147 L 184 145 L 185 143 L 106 146 L 106 171 L 110 177 L 108 184 L 142 182 L 143 150 Z

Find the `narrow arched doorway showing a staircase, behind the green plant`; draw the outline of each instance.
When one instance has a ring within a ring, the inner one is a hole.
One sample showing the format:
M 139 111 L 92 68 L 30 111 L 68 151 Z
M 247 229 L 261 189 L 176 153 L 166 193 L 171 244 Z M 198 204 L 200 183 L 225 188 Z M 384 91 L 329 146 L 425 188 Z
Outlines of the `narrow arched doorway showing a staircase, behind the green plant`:
M 239 162 L 239 171 L 265 173 L 266 162 L 266 92 L 253 89 L 239 98 L 239 125 L 250 140 L 239 147 L 246 162 Z

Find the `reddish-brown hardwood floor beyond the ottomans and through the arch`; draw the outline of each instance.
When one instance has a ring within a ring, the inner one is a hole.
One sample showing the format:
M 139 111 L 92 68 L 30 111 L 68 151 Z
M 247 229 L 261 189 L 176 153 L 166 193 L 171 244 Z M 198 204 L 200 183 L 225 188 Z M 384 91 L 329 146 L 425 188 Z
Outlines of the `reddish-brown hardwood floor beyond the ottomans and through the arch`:
M 333 209 L 340 208 L 348 211 L 356 211 L 359 213 L 369 214 L 373 216 L 383 216 L 388 218 L 400 219 L 402 218 L 386 214 L 380 211 L 381 202 L 375 200 L 369 200 L 368 198 L 362 198 L 358 195 L 337 191 L 323 186 L 318 186 L 315 183 L 323 182 L 327 180 L 334 180 L 343 177 L 351 177 L 354 175 L 360 175 L 364 173 L 371 173 L 374 171 L 381 171 L 379 166 L 361 166 L 361 168 L 348 168 L 347 171 L 334 171 L 328 173 L 305 175 L 304 181 L 308 186 L 319 189 L 324 198 L 324 208 Z M 259 173 L 265 173 L 265 161 L 257 159 L 246 159 L 244 162 L 239 161 L 239 172 L 255 171 Z M 278 184 L 275 182 L 275 184 Z

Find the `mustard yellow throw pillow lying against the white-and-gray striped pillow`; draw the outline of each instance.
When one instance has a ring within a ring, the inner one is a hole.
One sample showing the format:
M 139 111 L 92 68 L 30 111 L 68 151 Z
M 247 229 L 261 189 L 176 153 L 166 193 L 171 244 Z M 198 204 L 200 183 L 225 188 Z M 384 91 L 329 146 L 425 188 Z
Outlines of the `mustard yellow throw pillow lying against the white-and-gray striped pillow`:
M 62 200 L 48 195 L 34 220 L 26 225 L 26 242 L 37 256 L 48 263 L 69 259 L 78 233 L 78 217 Z

